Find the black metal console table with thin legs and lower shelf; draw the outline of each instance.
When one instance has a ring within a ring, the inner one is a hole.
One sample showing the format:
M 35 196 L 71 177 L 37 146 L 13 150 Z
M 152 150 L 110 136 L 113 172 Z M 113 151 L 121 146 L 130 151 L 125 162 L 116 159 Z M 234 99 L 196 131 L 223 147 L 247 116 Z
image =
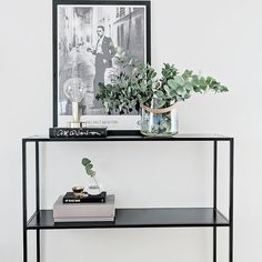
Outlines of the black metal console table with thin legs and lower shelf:
M 213 206 L 171 209 L 117 209 L 113 222 L 56 223 L 52 210 L 40 210 L 40 161 L 39 144 L 47 142 L 95 142 L 95 141 L 210 141 L 213 142 Z M 218 209 L 218 142 L 228 141 L 230 150 L 229 218 Z M 27 144 L 36 145 L 36 212 L 28 219 L 27 202 Z M 37 262 L 40 262 L 40 231 L 52 229 L 103 229 L 103 228 L 213 228 L 213 262 L 216 262 L 216 228 L 229 228 L 229 262 L 233 262 L 233 172 L 234 139 L 216 134 L 178 134 L 173 138 L 150 138 L 142 135 L 111 135 L 90 139 L 51 139 L 30 137 L 22 139 L 22 213 L 23 213 L 23 262 L 28 262 L 28 231 L 37 233 Z M 130 219 L 131 218 L 131 219 Z

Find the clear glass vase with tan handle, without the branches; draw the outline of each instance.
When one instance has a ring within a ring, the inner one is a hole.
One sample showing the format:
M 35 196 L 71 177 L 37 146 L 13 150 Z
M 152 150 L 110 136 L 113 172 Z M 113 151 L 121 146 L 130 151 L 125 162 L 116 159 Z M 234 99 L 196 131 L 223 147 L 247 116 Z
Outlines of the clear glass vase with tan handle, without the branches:
M 178 133 L 178 109 L 173 103 L 168 108 L 141 105 L 141 133 L 150 137 L 172 137 Z

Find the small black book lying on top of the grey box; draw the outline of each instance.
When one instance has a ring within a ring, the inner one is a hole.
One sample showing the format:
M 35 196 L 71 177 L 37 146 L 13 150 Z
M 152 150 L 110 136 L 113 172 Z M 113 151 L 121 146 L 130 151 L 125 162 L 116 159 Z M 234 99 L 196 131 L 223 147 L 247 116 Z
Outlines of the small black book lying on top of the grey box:
M 107 192 L 103 191 L 100 194 L 88 194 L 83 192 L 81 196 L 75 196 L 73 192 L 67 192 L 63 196 L 63 203 L 104 203 L 107 198 Z

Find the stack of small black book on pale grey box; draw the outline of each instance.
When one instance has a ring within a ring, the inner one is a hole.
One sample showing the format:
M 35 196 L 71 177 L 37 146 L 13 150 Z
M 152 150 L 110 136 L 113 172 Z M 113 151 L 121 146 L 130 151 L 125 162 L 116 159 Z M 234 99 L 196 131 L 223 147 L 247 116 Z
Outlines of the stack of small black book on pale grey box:
M 54 222 L 114 221 L 114 194 L 74 196 L 72 192 L 60 195 L 53 204 Z

